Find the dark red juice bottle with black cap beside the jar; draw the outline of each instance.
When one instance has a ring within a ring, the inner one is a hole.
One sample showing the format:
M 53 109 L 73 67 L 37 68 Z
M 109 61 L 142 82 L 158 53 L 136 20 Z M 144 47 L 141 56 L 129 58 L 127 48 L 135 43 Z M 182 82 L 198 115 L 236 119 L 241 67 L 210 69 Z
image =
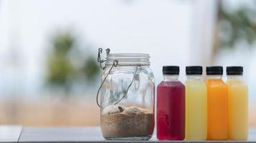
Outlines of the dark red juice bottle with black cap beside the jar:
M 157 86 L 157 139 L 185 138 L 185 86 L 178 80 L 179 66 L 163 66 Z

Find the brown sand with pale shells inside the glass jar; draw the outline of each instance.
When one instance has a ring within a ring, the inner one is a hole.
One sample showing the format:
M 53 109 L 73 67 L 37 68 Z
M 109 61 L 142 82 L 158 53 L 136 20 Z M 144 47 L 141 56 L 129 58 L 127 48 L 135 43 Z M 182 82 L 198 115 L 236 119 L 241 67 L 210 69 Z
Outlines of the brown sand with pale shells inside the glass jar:
M 154 130 L 154 114 L 138 107 L 111 105 L 112 112 L 101 114 L 101 131 L 108 137 L 148 137 Z M 119 108 L 119 112 L 114 108 Z

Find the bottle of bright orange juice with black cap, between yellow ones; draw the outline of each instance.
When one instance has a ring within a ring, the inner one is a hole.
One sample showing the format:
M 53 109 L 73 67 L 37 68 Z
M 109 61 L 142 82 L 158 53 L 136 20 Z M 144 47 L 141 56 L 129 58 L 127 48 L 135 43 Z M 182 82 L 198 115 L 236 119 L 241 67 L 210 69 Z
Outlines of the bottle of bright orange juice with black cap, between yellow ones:
M 207 139 L 228 139 L 228 87 L 221 76 L 222 66 L 206 67 Z

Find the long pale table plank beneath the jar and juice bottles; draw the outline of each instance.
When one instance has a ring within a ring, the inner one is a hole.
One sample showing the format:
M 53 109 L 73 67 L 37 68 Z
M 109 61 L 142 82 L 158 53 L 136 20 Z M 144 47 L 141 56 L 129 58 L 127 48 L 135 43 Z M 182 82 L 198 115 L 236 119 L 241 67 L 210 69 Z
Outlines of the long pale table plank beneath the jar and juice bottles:
M 99 127 L 24 127 L 19 142 L 159 142 L 155 133 L 150 141 L 108 141 Z M 184 142 L 184 141 L 165 141 Z M 189 141 L 186 141 L 189 142 Z M 202 141 L 205 142 L 205 141 Z M 230 142 L 230 141 L 207 141 Z M 236 141 L 240 142 L 240 141 Z M 244 141 L 242 141 L 244 142 Z M 247 142 L 256 142 L 256 129 L 250 129 Z

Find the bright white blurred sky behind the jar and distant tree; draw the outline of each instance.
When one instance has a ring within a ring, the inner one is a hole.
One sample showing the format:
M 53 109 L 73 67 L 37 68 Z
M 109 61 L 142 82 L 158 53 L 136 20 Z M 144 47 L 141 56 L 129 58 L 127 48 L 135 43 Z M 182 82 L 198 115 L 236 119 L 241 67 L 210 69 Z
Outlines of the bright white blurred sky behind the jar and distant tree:
M 55 29 L 74 29 L 81 39 L 112 52 L 150 54 L 157 83 L 163 65 L 185 66 L 189 61 L 192 5 L 187 1 L 9 0 L 0 4 L 1 78 L 25 79 L 29 89 L 42 82 L 48 36 Z M 17 64 L 12 66 L 13 62 Z M 4 86 L 11 85 L 4 82 Z

